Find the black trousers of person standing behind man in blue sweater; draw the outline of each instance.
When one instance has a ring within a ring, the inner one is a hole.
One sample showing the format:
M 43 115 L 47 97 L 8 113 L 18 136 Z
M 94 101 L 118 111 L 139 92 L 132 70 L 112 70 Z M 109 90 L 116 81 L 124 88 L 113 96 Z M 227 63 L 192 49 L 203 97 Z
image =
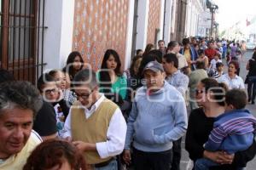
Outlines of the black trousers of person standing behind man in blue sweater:
M 171 170 L 179 170 L 179 164 L 181 160 L 181 142 L 182 138 L 173 141 L 172 144 L 172 168 Z

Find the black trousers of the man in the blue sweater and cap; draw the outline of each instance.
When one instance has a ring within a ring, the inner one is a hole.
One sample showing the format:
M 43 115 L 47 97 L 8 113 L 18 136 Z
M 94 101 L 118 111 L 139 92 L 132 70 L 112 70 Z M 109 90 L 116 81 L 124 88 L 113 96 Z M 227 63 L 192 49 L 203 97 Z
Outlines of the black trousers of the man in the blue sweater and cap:
M 172 150 L 162 152 L 144 152 L 133 150 L 134 170 L 170 170 Z

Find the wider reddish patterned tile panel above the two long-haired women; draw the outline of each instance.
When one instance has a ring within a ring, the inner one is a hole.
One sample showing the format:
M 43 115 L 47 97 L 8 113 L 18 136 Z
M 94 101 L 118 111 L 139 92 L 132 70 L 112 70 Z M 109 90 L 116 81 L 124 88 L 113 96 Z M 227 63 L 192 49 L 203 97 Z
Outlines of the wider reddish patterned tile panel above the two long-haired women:
M 125 64 L 129 0 L 75 0 L 73 50 L 94 70 L 102 65 L 108 48 Z

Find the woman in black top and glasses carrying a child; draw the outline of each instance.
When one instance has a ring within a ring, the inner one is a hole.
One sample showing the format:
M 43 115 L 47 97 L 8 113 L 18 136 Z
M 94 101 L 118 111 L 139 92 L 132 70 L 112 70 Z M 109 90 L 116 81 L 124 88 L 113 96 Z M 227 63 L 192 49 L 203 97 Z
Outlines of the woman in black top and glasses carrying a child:
M 255 141 L 247 150 L 236 152 L 235 155 L 228 155 L 221 150 L 212 152 L 203 147 L 212 131 L 215 117 L 224 113 L 226 90 L 227 87 L 224 83 L 218 83 L 212 78 L 205 78 L 198 83 L 195 95 L 197 103 L 201 107 L 190 113 L 185 142 L 185 148 L 192 161 L 195 162 L 202 157 L 208 158 L 223 164 L 215 168 L 218 170 L 246 167 L 247 161 L 252 160 L 256 153 Z

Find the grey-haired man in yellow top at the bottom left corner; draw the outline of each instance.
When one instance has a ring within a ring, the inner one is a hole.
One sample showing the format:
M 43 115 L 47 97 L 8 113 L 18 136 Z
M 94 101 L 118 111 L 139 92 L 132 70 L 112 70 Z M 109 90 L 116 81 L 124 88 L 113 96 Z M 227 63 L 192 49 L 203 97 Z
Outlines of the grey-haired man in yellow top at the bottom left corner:
M 42 99 L 29 82 L 0 84 L 0 169 L 21 170 L 31 151 L 42 141 L 32 131 Z

